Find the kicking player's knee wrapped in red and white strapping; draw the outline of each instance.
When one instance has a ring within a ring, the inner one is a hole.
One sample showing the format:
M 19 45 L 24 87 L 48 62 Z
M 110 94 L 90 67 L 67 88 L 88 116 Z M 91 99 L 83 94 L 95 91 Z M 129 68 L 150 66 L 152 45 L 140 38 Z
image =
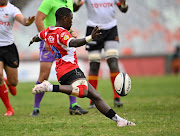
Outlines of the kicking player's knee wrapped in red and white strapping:
M 88 86 L 86 80 L 77 80 L 72 84 L 73 90 L 71 95 L 83 98 L 88 95 Z

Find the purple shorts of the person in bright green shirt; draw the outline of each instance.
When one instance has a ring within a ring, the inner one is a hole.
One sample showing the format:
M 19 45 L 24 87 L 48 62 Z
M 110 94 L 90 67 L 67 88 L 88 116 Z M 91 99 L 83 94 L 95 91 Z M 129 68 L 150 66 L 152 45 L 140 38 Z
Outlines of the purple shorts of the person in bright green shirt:
M 53 62 L 55 60 L 52 52 L 46 50 L 44 41 L 41 41 L 39 49 L 40 62 Z

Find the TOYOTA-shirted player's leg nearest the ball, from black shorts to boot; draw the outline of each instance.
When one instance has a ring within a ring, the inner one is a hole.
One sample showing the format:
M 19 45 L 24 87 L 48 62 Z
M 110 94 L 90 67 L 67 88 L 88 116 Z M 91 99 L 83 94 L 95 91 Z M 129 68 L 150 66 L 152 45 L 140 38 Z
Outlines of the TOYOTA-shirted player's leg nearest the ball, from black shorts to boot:
M 118 57 L 119 57 L 119 41 L 117 27 L 107 30 L 106 41 L 104 42 L 105 58 L 110 69 L 111 84 L 114 92 L 114 106 L 121 107 L 123 103 L 120 101 L 119 95 L 114 88 L 115 77 L 119 74 Z

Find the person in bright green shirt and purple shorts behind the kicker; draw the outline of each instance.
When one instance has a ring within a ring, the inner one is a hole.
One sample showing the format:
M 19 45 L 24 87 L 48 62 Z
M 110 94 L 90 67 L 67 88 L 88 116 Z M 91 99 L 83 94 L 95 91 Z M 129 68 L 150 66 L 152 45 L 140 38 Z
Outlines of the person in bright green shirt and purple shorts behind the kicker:
M 55 26 L 56 10 L 60 7 L 68 7 L 73 11 L 73 1 L 72 0 L 43 0 L 35 19 L 35 23 L 38 31 L 42 31 L 49 26 Z M 48 45 L 42 41 L 40 43 L 40 73 L 36 84 L 40 84 L 44 80 L 48 80 L 51 71 L 51 66 L 54 61 L 54 56 L 49 50 Z M 44 96 L 44 93 L 36 94 L 34 98 L 34 109 L 30 116 L 36 117 L 40 113 L 40 102 Z M 87 110 L 83 110 L 79 105 L 77 105 L 76 97 L 69 96 L 70 100 L 70 114 L 86 114 Z

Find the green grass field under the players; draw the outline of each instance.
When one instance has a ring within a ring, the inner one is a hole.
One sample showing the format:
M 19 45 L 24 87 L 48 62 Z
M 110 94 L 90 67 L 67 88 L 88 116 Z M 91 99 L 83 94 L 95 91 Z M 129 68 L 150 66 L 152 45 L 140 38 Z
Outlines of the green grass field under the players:
M 131 80 L 130 94 L 122 97 L 123 108 L 113 107 L 109 80 L 99 81 L 98 92 L 117 114 L 135 122 L 135 127 L 117 128 L 97 109 L 72 116 L 68 96 L 61 93 L 46 93 L 40 116 L 30 117 L 34 83 L 19 83 L 17 96 L 9 94 L 15 115 L 4 117 L 6 109 L 0 102 L 0 136 L 180 136 L 180 76 Z M 78 98 L 78 104 L 87 109 L 89 100 Z

